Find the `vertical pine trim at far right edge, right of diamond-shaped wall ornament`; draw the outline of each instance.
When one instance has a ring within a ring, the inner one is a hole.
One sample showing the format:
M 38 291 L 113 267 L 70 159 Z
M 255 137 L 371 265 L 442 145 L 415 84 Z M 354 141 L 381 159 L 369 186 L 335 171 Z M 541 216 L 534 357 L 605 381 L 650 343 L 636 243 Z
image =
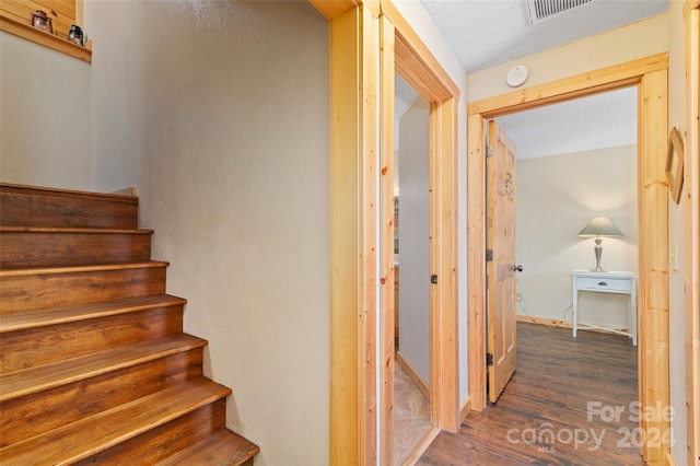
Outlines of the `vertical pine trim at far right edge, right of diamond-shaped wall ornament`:
M 700 464 L 700 0 L 687 0 L 686 23 L 686 404 L 688 463 Z M 695 459 L 693 459 L 695 458 Z

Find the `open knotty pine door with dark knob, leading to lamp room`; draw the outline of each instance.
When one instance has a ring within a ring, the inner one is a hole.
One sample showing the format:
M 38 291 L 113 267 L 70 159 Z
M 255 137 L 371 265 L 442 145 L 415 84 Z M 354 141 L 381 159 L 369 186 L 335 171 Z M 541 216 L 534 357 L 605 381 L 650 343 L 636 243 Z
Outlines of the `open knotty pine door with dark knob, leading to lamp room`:
M 487 310 L 489 400 L 515 372 L 515 144 L 489 121 L 487 159 Z

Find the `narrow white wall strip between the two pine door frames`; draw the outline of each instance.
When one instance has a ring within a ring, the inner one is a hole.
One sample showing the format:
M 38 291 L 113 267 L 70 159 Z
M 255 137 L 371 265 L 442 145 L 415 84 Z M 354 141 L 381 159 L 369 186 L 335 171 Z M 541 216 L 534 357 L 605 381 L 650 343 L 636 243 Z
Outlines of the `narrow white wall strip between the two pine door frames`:
M 396 0 L 396 9 L 424 42 L 445 72 L 459 88 L 457 106 L 457 283 L 459 404 L 467 400 L 467 73 L 419 1 Z

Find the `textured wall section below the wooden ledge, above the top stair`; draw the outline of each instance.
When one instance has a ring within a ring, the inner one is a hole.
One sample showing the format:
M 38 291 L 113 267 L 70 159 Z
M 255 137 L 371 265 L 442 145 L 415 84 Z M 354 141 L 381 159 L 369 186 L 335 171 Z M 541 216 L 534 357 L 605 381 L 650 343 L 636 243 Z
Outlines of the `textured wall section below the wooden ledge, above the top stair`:
M 89 63 L 0 32 L 0 177 L 91 189 Z

